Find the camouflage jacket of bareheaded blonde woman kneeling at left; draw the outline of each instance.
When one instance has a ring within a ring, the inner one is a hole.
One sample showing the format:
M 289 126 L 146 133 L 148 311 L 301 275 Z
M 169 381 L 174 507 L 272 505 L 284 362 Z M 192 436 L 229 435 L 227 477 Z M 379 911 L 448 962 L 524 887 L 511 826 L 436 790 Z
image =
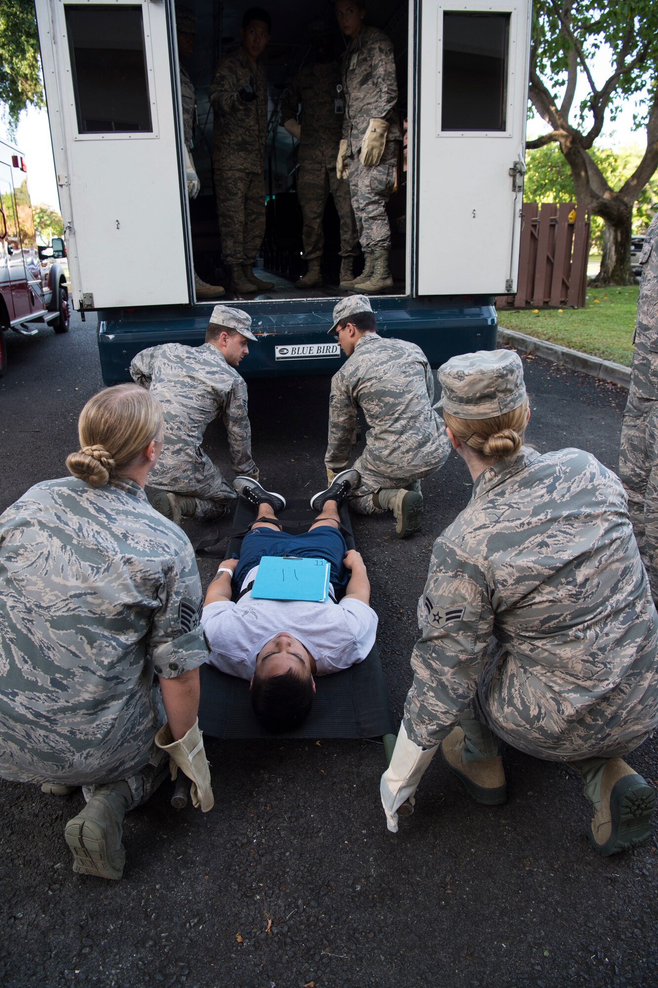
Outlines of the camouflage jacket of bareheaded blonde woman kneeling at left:
M 190 541 L 133 480 L 36 484 L 0 516 L 0 776 L 126 778 L 164 722 L 154 671 L 206 661 Z

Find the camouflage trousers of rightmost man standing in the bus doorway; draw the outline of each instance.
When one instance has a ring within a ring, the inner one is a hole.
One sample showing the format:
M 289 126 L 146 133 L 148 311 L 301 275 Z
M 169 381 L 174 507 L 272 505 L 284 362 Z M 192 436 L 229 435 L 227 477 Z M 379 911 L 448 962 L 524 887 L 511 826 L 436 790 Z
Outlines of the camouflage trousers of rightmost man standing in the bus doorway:
M 390 250 L 386 203 L 395 183 L 397 151 L 398 142 L 387 140 L 378 165 L 362 165 L 359 152 L 348 158 L 350 195 L 365 254 Z

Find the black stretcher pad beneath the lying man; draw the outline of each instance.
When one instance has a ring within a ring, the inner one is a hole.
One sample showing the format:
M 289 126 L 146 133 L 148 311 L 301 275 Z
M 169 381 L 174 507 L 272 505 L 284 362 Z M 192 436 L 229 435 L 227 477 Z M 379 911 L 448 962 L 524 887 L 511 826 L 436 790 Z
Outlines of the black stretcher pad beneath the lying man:
M 305 532 L 315 519 L 307 501 L 289 501 L 279 513 L 284 530 L 291 534 Z M 349 548 L 355 548 L 347 505 L 341 507 L 341 527 Z M 242 536 L 254 522 L 254 510 L 238 500 L 233 531 L 224 538 L 207 539 L 197 549 L 199 555 L 215 555 L 222 559 L 240 551 Z M 222 551 L 207 547 L 222 546 Z M 203 550 L 203 551 L 202 551 Z M 249 683 L 236 676 L 227 676 L 212 666 L 201 669 L 201 702 L 199 726 L 209 737 L 239 738 L 371 738 L 397 733 L 390 702 L 386 693 L 383 671 L 376 643 L 370 655 L 349 669 L 331 676 L 319 676 L 315 681 L 316 695 L 309 716 L 294 731 L 269 734 L 255 716 L 249 698 Z

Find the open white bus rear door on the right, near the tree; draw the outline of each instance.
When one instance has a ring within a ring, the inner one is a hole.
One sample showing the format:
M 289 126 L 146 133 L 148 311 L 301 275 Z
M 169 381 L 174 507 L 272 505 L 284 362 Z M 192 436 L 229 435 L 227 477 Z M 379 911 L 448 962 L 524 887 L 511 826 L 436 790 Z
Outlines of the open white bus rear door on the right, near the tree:
M 516 291 L 530 0 L 416 9 L 414 293 Z

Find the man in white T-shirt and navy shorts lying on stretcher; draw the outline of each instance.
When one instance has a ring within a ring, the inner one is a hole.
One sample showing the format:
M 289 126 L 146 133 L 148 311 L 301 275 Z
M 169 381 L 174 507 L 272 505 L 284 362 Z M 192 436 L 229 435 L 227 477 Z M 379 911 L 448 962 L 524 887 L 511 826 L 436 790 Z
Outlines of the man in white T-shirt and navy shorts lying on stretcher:
M 314 676 L 363 662 L 374 644 L 377 616 L 370 608 L 370 582 L 361 553 L 348 551 L 340 531 L 339 508 L 357 470 L 343 470 L 311 498 L 318 512 L 308 532 L 282 531 L 277 511 L 281 494 L 256 480 L 236 477 L 239 496 L 257 510 L 242 539 L 239 559 L 225 559 L 207 588 L 202 624 L 210 645 L 207 661 L 221 672 L 251 681 L 256 715 L 270 731 L 290 730 L 308 715 Z M 329 599 L 324 603 L 254 598 L 251 590 L 263 556 L 325 559 L 330 564 Z M 231 601 L 231 582 L 240 596 Z M 339 592 L 345 596 L 336 602 Z

